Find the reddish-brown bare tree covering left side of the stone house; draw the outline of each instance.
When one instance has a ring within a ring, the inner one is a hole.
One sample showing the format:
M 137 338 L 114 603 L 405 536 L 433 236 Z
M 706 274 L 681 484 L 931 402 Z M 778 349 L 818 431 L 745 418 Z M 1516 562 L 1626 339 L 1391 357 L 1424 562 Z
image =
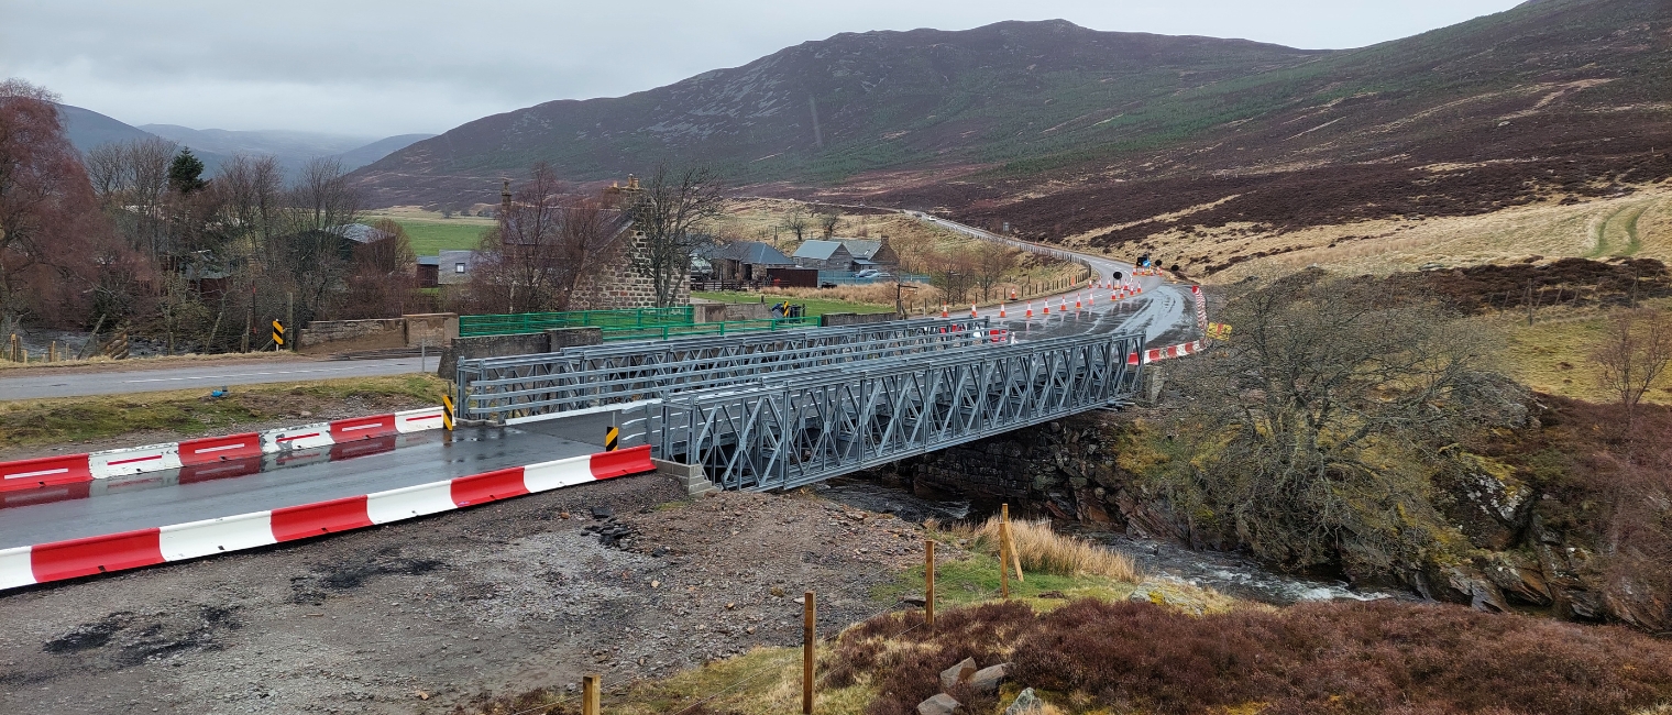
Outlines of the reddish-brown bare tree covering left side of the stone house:
M 565 197 L 552 169 L 535 164 L 500 227 L 483 237 L 472 299 L 503 312 L 565 311 L 594 269 L 619 256 L 625 222 L 595 199 Z

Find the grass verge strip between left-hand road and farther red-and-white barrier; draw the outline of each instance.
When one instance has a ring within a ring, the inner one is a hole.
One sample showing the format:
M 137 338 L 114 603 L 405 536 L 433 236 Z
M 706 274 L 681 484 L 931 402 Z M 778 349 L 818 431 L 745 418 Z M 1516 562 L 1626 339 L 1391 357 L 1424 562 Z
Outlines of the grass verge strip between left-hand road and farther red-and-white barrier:
M 438 404 L 446 383 L 433 374 L 349 378 L 90 398 L 0 403 L 0 449 L 107 439 L 129 433 L 201 436 L 274 419 L 323 419 Z

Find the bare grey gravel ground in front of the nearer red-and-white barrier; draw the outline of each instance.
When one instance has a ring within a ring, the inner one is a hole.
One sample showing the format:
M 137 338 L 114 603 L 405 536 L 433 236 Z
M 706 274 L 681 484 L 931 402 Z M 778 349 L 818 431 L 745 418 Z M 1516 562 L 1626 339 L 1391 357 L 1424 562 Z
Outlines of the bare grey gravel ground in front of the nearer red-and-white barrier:
M 614 688 L 879 610 L 920 531 L 645 474 L 301 545 L 0 595 L 3 713 L 440 713 Z

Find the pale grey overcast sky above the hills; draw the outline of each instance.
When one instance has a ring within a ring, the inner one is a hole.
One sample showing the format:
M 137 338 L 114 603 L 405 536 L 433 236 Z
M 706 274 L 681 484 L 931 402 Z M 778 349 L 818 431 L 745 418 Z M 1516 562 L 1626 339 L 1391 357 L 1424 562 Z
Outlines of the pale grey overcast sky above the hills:
M 0 0 L 0 77 L 127 124 L 393 135 L 659 87 L 838 32 L 1065 18 L 1344 48 L 1518 2 Z

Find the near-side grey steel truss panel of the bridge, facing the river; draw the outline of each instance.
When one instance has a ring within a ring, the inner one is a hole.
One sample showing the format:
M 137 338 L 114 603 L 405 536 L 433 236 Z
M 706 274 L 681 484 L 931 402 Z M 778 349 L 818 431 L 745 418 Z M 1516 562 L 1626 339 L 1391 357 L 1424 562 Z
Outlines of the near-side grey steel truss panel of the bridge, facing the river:
M 844 366 L 645 408 L 655 456 L 724 489 L 794 488 L 1132 394 L 1140 334 L 1085 334 Z

